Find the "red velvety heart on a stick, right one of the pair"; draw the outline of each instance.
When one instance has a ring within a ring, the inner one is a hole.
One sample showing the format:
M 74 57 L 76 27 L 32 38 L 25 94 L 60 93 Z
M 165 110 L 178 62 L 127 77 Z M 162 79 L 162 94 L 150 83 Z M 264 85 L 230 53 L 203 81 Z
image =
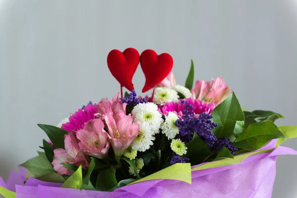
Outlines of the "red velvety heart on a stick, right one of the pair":
M 157 55 L 154 50 L 146 49 L 140 55 L 140 65 L 146 77 L 142 92 L 147 92 L 162 82 L 170 73 L 173 59 L 169 53 Z

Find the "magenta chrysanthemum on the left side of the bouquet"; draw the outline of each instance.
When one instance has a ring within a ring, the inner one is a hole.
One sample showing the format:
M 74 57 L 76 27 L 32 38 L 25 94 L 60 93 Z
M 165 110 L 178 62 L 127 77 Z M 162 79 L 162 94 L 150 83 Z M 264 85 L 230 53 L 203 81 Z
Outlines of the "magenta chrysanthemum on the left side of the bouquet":
M 62 129 L 70 132 L 71 130 L 78 131 L 84 128 L 85 122 L 94 119 L 95 113 L 98 113 L 98 109 L 95 105 L 88 104 L 84 107 L 84 110 L 78 109 L 69 117 L 69 122 L 61 126 Z

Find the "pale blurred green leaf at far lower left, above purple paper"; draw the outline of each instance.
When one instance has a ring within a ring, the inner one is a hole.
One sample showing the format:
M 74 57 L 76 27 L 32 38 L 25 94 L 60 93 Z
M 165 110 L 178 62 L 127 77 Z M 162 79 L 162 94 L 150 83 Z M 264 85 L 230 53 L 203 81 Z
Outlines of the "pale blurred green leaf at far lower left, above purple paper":
M 39 152 L 38 156 L 27 160 L 20 166 L 27 168 L 35 177 L 46 175 L 50 172 L 55 172 L 44 152 Z

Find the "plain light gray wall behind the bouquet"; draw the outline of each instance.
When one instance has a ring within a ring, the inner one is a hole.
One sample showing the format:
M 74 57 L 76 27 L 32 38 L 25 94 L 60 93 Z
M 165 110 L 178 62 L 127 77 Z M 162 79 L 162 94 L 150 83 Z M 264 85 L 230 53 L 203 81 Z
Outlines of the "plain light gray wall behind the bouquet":
M 197 80 L 222 76 L 247 109 L 297 125 L 296 35 L 297 0 L 0 0 L 0 175 L 37 154 L 37 123 L 119 91 L 111 49 L 169 52 L 182 85 L 193 58 Z M 140 93 L 140 68 L 133 80 Z M 296 166 L 278 157 L 274 198 L 297 197 Z

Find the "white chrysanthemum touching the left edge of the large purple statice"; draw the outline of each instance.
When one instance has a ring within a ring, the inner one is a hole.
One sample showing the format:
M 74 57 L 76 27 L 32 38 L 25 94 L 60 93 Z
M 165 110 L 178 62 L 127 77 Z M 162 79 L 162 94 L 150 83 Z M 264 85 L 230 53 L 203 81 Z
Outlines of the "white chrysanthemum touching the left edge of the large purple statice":
M 179 133 L 179 128 L 175 126 L 175 121 L 178 119 L 178 116 L 169 112 L 168 115 L 165 115 L 165 122 L 161 126 L 162 134 L 165 134 L 168 140 L 175 138 L 175 136 Z

